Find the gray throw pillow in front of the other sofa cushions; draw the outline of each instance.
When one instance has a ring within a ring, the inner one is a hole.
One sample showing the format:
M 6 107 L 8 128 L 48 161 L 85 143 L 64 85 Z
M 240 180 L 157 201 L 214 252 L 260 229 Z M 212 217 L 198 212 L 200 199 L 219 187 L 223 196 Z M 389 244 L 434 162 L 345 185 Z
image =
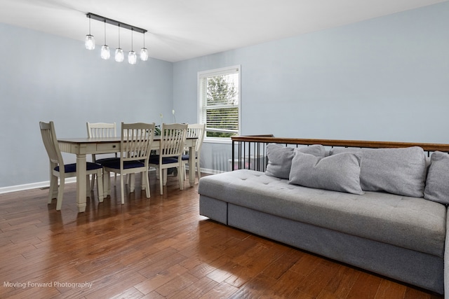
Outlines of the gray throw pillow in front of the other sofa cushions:
M 362 195 L 360 186 L 361 155 L 339 153 L 326 158 L 295 152 L 289 183 Z

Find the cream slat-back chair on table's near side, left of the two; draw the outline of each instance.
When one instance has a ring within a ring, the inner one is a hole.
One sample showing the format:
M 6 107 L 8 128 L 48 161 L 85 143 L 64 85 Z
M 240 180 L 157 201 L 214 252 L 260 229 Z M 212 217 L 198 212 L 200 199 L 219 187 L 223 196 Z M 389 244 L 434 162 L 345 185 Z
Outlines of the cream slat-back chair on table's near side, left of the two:
M 142 188 L 149 194 L 149 154 L 154 139 L 154 123 L 121 123 L 120 158 L 103 164 L 103 176 L 105 190 L 109 190 L 110 173 L 120 174 L 121 204 L 125 203 L 124 174 L 130 174 L 134 182 L 134 174 L 142 173 Z M 130 184 L 130 193 L 135 189 L 134 183 Z

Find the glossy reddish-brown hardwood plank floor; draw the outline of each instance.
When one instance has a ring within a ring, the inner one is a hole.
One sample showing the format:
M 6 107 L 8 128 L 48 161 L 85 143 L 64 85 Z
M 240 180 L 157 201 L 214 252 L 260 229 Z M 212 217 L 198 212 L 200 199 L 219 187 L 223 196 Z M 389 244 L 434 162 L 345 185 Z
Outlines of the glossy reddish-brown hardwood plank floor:
M 443 298 L 199 216 L 198 185 L 150 182 L 150 199 L 122 205 L 118 184 L 81 214 L 74 184 L 61 211 L 48 189 L 0 195 L 0 298 Z

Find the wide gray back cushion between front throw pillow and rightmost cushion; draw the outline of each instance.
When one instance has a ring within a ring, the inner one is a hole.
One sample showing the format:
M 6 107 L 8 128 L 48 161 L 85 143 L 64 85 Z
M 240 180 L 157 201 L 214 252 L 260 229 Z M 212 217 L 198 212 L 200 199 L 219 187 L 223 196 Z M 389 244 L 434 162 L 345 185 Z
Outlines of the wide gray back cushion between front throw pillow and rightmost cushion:
M 424 197 L 426 156 L 419 146 L 409 148 L 333 148 L 330 155 L 361 153 L 360 183 L 365 191 Z

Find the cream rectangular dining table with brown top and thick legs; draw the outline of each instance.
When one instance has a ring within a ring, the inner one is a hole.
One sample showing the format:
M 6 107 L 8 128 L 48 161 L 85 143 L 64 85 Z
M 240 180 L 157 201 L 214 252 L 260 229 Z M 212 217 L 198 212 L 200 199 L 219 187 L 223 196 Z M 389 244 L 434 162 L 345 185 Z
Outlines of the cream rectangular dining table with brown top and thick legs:
M 189 169 L 195 169 L 196 137 L 187 137 L 186 146 L 189 146 Z M 121 137 L 99 138 L 61 138 L 58 139 L 60 151 L 76 155 L 76 207 L 79 213 L 86 211 L 86 155 L 100 153 L 120 152 Z M 161 144 L 161 137 L 155 136 L 152 149 L 157 150 Z M 195 184 L 195 172 L 189 172 L 189 184 Z M 98 195 L 100 202 L 104 194 Z

